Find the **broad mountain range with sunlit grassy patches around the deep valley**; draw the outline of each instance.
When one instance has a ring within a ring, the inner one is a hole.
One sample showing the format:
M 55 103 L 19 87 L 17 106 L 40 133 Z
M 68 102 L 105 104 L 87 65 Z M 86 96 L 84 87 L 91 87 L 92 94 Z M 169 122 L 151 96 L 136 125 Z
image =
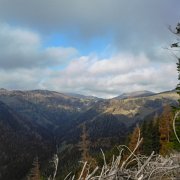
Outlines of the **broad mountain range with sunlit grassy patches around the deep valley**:
M 100 148 L 109 151 L 115 145 L 125 143 L 127 135 L 138 122 L 152 119 L 155 114 L 162 112 L 166 104 L 175 105 L 177 99 L 178 95 L 174 91 L 107 100 L 79 95 L 72 97 L 47 90 L 1 89 L 3 115 L 1 133 L 7 136 L 5 138 L 7 140 L 15 136 L 13 133 L 16 134 L 17 139 L 21 134 L 23 137 L 21 144 L 25 144 L 27 154 L 31 152 L 26 147 L 32 146 L 29 144 L 32 141 L 28 139 L 32 136 L 33 142 L 37 145 L 34 146 L 34 150 L 38 149 L 38 152 L 43 152 L 45 156 L 42 159 L 49 157 L 43 148 L 50 147 L 48 152 L 52 154 L 52 151 L 55 152 L 53 146 L 56 144 L 61 164 L 58 177 L 63 178 L 69 171 L 77 170 L 78 162 L 83 158 L 82 136 L 86 136 L 84 143 L 87 144 L 89 157 L 97 158 Z M 10 124 L 6 125 L 6 121 L 14 123 L 14 127 L 20 126 L 22 132 L 12 128 Z M 9 135 L 3 130 L 6 126 L 12 134 Z M 16 139 L 11 143 L 15 146 Z M 4 153 L 10 151 L 8 147 L 6 149 Z M 21 150 L 17 149 L 16 153 L 20 152 Z M 35 156 L 35 151 L 31 155 Z M 28 167 L 30 166 L 29 161 Z

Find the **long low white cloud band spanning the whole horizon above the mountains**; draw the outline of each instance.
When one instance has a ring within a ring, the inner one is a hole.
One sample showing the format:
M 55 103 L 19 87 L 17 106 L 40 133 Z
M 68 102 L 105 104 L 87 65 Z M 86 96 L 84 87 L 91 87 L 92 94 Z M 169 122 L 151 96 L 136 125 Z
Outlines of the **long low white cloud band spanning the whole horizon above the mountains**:
M 1 69 L 0 76 L 0 86 L 8 89 L 49 89 L 105 98 L 138 90 L 170 90 L 177 83 L 175 61 L 151 62 L 142 54 L 109 59 L 82 56 L 63 70 L 48 66 Z

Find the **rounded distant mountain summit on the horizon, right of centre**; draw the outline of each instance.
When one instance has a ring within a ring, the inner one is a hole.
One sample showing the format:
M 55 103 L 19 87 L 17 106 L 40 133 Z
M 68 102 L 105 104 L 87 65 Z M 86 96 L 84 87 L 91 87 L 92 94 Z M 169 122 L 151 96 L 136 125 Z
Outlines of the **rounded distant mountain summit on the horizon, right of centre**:
M 147 96 L 152 96 L 156 93 L 151 92 L 151 91 L 134 91 L 134 92 L 129 92 L 129 93 L 123 93 L 120 96 L 115 97 L 115 99 L 128 99 L 128 98 L 135 98 L 135 97 L 147 97 Z

